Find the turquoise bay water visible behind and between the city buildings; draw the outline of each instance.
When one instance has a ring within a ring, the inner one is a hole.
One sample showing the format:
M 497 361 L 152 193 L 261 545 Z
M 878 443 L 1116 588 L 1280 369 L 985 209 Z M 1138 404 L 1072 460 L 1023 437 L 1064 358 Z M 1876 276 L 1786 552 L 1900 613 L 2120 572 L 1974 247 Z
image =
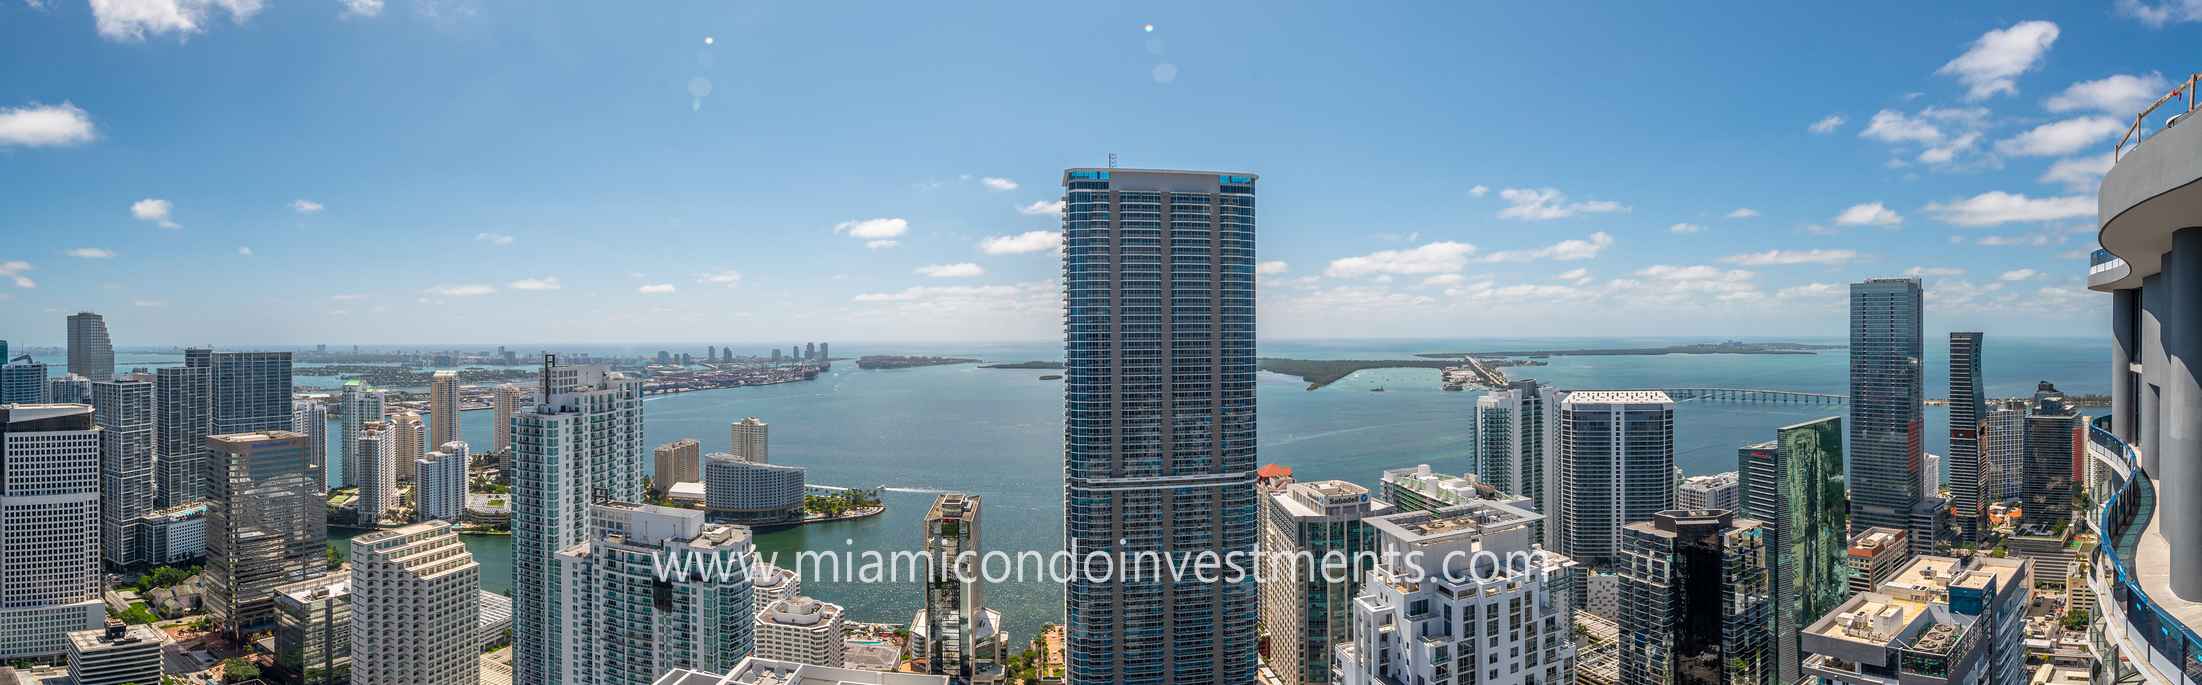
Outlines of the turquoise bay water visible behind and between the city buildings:
M 1504 348 L 1623 348 L 1702 339 L 1356 339 L 1264 341 L 1266 357 L 1299 359 L 1407 359 L 1416 352 Z M 1841 339 L 1790 339 L 1834 341 Z M 683 350 L 643 344 L 577 352 Z M 700 352 L 700 346 L 694 346 Z M 760 346 L 768 348 L 768 346 Z M 1947 344 L 1929 339 L 1929 396 L 1947 396 Z M 989 361 L 1061 359 L 1055 341 L 1028 344 L 837 344 L 854 355 L 960 355 Z M 117 355 L 126 357 L 126 355 Z M 1984 372 L 1991 396 L 2030 394 L 2037 379 L 2065 392 L 2107 392 L 2107 341 L 1988 337 Z M 48 363 L 57 363 L 53 359 Z M 1819 355 L 1665 355 L 1665 357 L 1552 357 L 1541 368 L 1508 368 L 1561 388 L 1766 388 L 1847 390 L 1843 350 Z M 148 363 L 148 361 L 117 361 Z M 852 522 L 813 524 L 757 535 L 762 555 L 791 564 L 797 551 L 914 551 L 918 515 L 934 493 L 984 496 L 982 546 L 1053 551 L 1061 544 L 1061 383 L 1039 381 L 1050 370 L 982 370 L 931 366 L 857 370 L 841 363 L 819 381 L 707 390 L 645 401 L 652 445 L 698 438 L 705 452 L 727 449 L 727 423 L 760 416 L 773 425 L 773 463 L 808 469 L 815 485 L 885 487 L 887 513 Z M 1293 377 L 1260 374 L 1262 463 L 1282 463 L 1299 478 L 1345 478 L 1374 485 L 1392 467 L 1429 463 L 1438 471 L 1467 469 L 1469 407 L 1478 392 L 1438 390 L 1436 370 L 1367 370 L 1330 388 L 1306 392 Z M 1383 385 L 1387 392 L 1367 392 Z M 1775 427 L 1841 414 L 1841 405 L 1682 403 L 1676 412 L 1676 465 L 1685 474 L 1735 469 L 1735 447 L 1773 438 Z M 1947 410 L 1929 407 L 1927 449 L 1947 449 Z M 489 443 L 489 412 L 462 414 L 460 436 Z M 337 430 L 330 427 L 330 438 Z M 337 449 L 330 449 L 335 458 Z M 645 458 L 647 463 L 647 458 Z M 330 478 L 337 478 L 330 467 Z M 467 537 L 482 562 L 489 590 L 511 586 L 511 540 Z M 850 608 L 859 621 L 907 621 L 918 608 L 918 586 L 808 581 L 808 595 Z M 989 604 L 1004 612 L 1011 632 L 1031 634 L 1059 621 L 1061 592 L 1050 584 L 991 584 Z

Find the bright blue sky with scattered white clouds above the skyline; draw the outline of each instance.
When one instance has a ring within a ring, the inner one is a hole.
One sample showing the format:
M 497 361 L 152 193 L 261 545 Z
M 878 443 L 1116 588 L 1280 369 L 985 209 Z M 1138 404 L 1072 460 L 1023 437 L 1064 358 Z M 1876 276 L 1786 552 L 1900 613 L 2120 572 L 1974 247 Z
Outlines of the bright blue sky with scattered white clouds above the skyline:
M 0 0 L 0 339 L 1053 339 L 1110 154 L 1262 176 L 1264 337 L 1841 335 L 1878 275 L 2096 335 L 2094 185 L 2198 20 Z

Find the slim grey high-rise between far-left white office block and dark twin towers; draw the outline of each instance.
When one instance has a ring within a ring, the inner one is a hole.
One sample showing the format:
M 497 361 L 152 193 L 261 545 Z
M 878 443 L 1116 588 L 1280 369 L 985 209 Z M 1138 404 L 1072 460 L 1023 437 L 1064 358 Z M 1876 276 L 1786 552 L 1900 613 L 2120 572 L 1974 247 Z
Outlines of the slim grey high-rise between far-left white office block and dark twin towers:
M 126 377 L 128 379 L 128 377 Z M 108 564 L 141 562 L 137 522 L 152 511 L 154 401 L 148 381 L 97 381 L 92 425 L 99 425 L 99 537 Z

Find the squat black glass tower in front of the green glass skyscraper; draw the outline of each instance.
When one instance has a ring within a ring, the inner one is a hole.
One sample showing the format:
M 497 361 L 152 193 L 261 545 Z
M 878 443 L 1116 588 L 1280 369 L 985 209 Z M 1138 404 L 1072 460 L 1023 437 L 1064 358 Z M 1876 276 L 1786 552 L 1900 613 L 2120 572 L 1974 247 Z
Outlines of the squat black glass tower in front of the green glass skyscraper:
M 1621 544 L 1621 683 L 1777 683 L 1759 522 L 1660 511 Z

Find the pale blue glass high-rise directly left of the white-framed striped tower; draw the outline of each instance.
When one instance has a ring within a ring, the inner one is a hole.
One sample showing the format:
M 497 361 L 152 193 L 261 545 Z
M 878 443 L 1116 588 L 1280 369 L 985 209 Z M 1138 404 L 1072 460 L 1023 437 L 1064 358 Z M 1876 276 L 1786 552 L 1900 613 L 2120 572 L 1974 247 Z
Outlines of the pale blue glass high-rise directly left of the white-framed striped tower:
M 1508 381 L 1506 390 L 1475 399 L 1471 471 L 1500 491 L 1530 498 L 1537 513 L 1555 513 L 1559 504 L 1559 396 L 1552 385 Z M 1552 522 L 1559 518 L 1539 526 L 1537 542 L 1546 548 L 1559 548 Z

